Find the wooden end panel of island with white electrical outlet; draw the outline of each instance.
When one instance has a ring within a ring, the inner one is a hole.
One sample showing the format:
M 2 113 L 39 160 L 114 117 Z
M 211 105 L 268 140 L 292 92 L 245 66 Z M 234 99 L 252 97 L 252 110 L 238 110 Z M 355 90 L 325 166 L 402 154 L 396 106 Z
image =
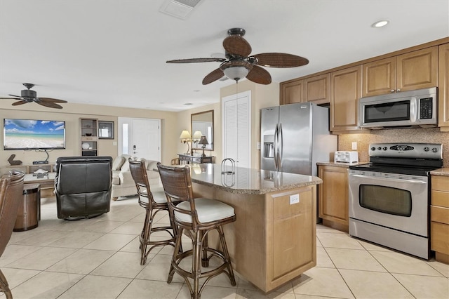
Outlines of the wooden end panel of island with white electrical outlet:
M 315 186 L 267 194 L 268 288 L 316 265 L 315 194 Z

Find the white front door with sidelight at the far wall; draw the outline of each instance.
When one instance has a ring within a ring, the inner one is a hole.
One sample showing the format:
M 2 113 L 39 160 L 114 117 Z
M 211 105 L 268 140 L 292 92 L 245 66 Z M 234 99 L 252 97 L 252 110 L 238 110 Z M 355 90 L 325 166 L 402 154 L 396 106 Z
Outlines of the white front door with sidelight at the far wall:
M 161 120 L 119 118 L 119 154 L 161 161 Z

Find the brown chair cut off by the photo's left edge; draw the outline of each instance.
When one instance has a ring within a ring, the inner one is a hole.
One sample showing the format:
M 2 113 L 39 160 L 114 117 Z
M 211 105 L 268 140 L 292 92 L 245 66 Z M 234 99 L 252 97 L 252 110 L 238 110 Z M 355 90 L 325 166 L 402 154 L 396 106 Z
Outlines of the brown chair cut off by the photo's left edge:
M 23 201 L 23 177 L 21 171 L 11 171 L 8 176 L 0 179 L 0 256 L 4 253 L 6 245 L 15 225 L 20 202 Z M 6 298 L 13 298 L 8 281 L 0 270 L 0 291 Z

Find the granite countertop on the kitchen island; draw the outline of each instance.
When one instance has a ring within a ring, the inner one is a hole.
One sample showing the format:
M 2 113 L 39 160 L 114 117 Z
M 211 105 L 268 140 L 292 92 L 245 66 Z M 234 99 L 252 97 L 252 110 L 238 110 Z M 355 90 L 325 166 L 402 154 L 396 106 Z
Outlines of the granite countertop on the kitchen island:
M 238 194 L 266 194 L 321 184 L 316 176 L 264 171 L 253 168 L 235 168 L 235 173 L 222 174 L 218 164 L 192 164 L 192 182 Z M 231 171 L 227 165 L 225 171 Z

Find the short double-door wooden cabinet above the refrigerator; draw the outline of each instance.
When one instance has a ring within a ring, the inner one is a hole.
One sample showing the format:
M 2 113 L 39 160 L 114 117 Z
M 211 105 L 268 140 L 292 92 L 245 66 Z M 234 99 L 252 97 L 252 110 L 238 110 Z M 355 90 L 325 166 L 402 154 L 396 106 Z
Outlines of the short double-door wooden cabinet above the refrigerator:
M 294 102 L 314 102 L 326 104 L 330 101 L 329 74 L 297 79 L 281 83 L 280 104 Z

